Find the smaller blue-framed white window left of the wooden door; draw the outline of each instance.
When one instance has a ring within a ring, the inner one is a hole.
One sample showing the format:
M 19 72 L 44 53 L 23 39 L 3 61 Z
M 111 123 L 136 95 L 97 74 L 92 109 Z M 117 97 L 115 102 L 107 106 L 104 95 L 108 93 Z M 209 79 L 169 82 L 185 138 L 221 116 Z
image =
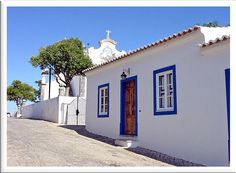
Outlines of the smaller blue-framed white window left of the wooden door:
M 98 86 L 97 116 L 109 117 L 109 83 Z

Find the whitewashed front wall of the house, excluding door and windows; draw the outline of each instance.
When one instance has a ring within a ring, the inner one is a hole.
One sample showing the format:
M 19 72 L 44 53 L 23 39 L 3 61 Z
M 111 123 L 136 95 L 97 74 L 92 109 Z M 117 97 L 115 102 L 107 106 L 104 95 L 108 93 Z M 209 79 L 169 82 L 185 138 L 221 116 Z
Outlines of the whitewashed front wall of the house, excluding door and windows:
M 130 76 L 137 75 L 138 80 L 141 147 L 199 164 L 228 165 L 224 70 L 230 65 L 229 43 L 202 50 L 198 44 L 204 39 L 201 31 L 196 31 L 88 72 L 87 130 L 119 137 L 120 75 L 130 68 Z M 177 114 L 155 116 L 153 71 L 170 65 L 176 65 Z M 97 118 L 98 85 L 104 83 L 110 84 L 109 118 Z

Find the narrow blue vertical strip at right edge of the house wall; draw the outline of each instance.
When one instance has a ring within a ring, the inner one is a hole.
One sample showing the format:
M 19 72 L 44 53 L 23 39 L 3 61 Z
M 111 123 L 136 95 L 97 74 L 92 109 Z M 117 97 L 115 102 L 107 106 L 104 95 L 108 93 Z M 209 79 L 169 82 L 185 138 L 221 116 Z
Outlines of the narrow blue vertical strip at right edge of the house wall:
M 225 70 L 226 105 L 228 123 L 228 159 L 230 161 L 230 69 Z

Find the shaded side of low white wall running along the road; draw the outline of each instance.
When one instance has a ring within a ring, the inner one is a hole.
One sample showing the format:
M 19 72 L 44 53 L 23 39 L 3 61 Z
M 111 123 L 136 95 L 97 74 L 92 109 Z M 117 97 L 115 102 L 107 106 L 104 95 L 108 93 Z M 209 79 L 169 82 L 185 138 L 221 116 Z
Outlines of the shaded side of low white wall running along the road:
M 43 119 L 58 122 L 59 97 L 24 106 L 22 116 L 25 118 Z

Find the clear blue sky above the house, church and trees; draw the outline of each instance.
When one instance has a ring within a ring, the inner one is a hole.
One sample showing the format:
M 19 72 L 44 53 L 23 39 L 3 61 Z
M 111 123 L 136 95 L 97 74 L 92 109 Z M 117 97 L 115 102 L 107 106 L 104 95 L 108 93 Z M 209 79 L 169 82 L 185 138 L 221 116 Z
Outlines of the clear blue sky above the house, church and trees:
M 118 50 L 133 50 L 196 23 L 230 23 L 227 7 L 9 7 L 7 15 L 7 84 L 21 80 L 34 87 L 40 70 L 29 64 L 40 47 L 69 37 L 98 47 L 105 30 Z M 16 106 L 8 102 L 8 111 Z

